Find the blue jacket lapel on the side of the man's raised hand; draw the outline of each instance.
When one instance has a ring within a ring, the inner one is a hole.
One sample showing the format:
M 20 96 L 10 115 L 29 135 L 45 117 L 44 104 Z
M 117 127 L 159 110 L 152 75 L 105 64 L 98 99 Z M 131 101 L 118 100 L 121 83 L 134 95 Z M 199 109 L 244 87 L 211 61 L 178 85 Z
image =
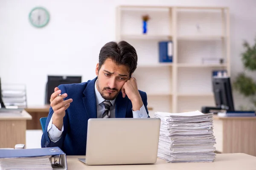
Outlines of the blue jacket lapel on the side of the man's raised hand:
M 88 119 L 97 118 L 97 105 L 96 105 L 96 96 L 95 96 L 95 89 L 94 89 L 96 79 L 97 77 L 91 80 L 90 82 L 88 82 L 83 92 L 84 108 L 87 113 Z

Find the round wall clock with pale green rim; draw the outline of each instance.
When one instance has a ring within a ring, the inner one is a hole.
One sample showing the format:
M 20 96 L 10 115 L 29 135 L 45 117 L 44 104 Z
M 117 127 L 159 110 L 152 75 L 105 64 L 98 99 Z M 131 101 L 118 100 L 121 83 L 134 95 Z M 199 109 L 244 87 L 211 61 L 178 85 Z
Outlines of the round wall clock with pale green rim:
M 49 13 L 42 7 L 33 8 L 29 13 L 29 21 L 35 27 L 44 27 L 49 23 Z

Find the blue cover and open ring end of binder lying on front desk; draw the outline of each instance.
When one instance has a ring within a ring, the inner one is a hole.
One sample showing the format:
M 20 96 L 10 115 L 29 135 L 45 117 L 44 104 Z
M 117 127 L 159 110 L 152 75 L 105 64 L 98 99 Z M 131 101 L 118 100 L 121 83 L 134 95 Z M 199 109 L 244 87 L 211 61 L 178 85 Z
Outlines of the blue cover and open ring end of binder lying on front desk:
M 26 160 L 35 161 L 35 157 L 49 156 L 49 162 L 52 163 L 52 168 L 58 168 L 58 170 L 67 170 L 67 158 L 59 147 L 44 147 L 36 149 L 2 149 L 0 150 L 0 162 L 5 161 L 8 158 L 20 159 L 25 158 Z

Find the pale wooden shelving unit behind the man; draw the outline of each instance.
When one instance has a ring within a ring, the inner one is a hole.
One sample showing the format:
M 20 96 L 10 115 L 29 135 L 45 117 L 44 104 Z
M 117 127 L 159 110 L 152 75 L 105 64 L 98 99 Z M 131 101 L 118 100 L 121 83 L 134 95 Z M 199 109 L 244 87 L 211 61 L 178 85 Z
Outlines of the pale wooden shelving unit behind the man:
M 148 14 L 147 34 L 142 15 Z M 230 75 L 230 25 L 226 7 L 118 6 L 116 40 L 136 48 L 134 72 L 140 90 L 148 94 L 151 115 L 155 111 L 183 112 L 214 106 L 212 71 Z M 173 42 L 173 62 L 160 63 L 158 42 Z M 203 64 L 203 58 L 223 63 Z

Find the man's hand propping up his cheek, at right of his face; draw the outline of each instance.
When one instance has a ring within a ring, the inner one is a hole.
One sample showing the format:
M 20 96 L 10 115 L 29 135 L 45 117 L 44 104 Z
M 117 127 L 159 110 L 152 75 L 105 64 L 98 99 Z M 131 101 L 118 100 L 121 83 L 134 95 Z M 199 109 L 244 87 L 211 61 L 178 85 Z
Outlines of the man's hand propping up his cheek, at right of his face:
M 143 106 L 143 102 L 138 91 L 137 80 L 135 78 L 128 79 L 122 87 L 122 96 L 125 94 L 132 102 L 133 111 L 140 110 Z

